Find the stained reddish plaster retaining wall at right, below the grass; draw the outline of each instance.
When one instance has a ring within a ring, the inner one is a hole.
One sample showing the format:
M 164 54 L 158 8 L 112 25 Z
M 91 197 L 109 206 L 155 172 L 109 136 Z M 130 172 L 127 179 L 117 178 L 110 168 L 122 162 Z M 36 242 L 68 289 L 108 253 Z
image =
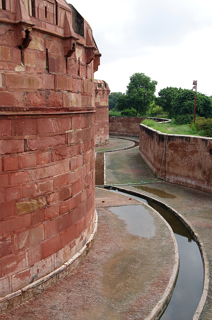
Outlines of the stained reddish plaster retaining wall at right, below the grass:
M 212 138 L 165 134 L 140 124 L 139 154 L 155 175 L 163 152 L 160 178 L 212 193 Z

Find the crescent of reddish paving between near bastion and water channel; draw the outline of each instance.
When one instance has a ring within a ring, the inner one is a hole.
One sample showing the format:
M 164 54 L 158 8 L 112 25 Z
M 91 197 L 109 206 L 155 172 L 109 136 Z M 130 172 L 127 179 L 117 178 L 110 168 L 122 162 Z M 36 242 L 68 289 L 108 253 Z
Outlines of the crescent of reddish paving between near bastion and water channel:
M 129 211 L 136 206 L 147 212 L 152 220 L 151 227 L 143 221 L 148 236 L 129 232 L 111 211 L 113 206 L 127 206 Z M 158 311 L 177 273 L 172 232 L 153 209 L 129 196 L 98 188 L 96 209 L 96 240 L 81 265 L 33 299 L 1 314 L 1 320 L 129 320 L 145 319 L 155 306 L 154 313 Z

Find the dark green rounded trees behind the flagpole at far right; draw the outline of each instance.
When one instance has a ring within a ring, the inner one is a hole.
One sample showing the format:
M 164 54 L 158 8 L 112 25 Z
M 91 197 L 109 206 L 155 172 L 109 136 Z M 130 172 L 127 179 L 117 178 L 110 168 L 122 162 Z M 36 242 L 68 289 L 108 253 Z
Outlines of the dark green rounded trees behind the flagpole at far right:
M 195 93 L 192 90 L 181 89 L 171 101 L 171 116 L 193 114 Z M 205 118 L 212 116 L 211 99 L 203 93 L 196 93 L 196 115 Z

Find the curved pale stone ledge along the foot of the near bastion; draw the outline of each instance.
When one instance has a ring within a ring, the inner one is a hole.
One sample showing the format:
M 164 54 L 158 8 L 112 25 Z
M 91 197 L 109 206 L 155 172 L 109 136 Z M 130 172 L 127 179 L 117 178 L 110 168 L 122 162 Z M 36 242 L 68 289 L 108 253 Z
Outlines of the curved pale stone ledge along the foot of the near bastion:
M 95 211 L 95 222 L 92 233 L 90 234 L 86 243 L 75 253 L 67 262 L 64 262 L 61 266 L 54 271 L 41 277 L 40 279 L 24 286 L 23 288 L 7 294 L 0 298 L 0 313 L 4 312 L 16 305 L 19 305 L 28 299 L 32 298 L 36 294 L 42 292 L 49 286 L 55 284 L 66 275 L 70 274 L 85 258 L 89 250 L 91 249 L 96 232 L 97 232 L 98 217 Z

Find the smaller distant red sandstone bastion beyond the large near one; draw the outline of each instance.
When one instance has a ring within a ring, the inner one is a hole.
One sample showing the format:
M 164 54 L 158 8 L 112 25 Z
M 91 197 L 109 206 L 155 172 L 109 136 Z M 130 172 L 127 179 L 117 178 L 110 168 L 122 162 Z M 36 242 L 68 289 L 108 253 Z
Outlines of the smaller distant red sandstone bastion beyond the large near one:
M 94 80 L 95 88 L 95 145 L 109 142 L 109 87 L 103 80 Z

